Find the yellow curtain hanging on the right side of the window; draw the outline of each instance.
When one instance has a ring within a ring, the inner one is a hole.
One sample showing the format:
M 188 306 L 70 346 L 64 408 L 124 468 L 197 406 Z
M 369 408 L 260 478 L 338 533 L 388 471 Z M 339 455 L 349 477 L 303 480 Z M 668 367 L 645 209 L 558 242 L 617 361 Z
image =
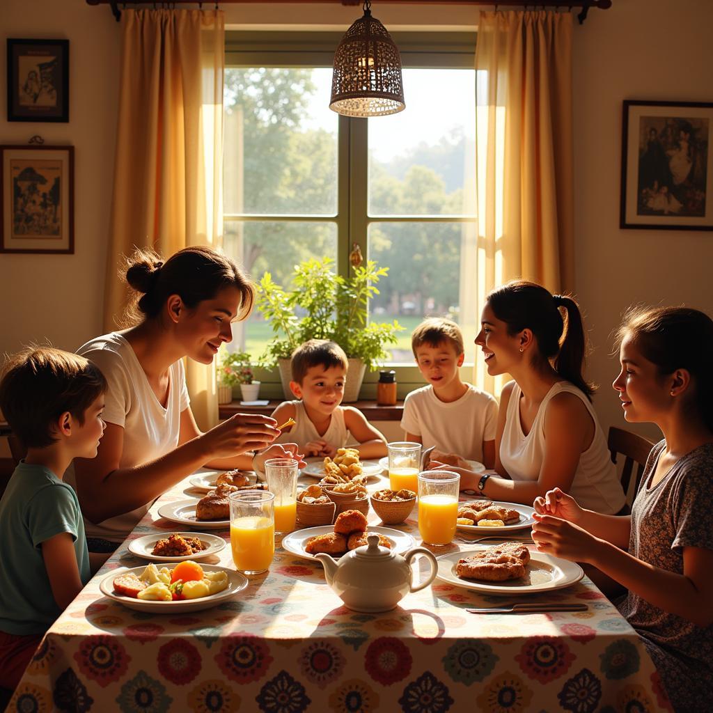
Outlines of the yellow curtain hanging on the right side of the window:
M 523 277 L 573 289 L 572 16 L 481 12 L 476 46 L 478 310 Z M 500 393 L 476 359 L 474 379 Z

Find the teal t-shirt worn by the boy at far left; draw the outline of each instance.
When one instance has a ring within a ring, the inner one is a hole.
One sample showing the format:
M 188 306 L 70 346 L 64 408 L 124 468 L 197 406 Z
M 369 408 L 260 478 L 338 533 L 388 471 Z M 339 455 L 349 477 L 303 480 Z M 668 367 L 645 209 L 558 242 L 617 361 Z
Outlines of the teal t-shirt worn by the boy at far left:
M 43 634 L 61 614 L 41 548 L 59 533 L 72 535 L 86 584 L 89 554 L 76 494 L 48 468 L 21 461 L 0 500 L 0 631 Z

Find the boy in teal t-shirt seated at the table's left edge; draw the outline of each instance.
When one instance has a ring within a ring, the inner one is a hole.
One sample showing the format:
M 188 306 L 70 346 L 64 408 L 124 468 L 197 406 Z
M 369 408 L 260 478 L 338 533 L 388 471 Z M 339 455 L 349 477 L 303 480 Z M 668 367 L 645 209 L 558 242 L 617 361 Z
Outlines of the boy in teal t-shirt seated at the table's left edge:
M 42 636 L 91 577 L 84 525 L 62 482 L 94 458 L 106 381 L 83 356 L 29 349 L 0 381 L 0 409 L 27 455 L 0 500 L 0 687 L 14 689 Z

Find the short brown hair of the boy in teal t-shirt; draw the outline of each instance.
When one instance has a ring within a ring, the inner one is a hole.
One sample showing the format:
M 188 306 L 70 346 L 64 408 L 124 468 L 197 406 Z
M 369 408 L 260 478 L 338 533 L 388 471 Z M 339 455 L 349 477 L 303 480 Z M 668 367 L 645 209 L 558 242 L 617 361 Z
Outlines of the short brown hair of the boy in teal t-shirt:
M 25 448 L 56 441 L 51 425 L 65 411 L 80 424 L 106 379 L 88 359 L 53 347 L 29 347 L 11 356 L 2 370 L 0 409 Z

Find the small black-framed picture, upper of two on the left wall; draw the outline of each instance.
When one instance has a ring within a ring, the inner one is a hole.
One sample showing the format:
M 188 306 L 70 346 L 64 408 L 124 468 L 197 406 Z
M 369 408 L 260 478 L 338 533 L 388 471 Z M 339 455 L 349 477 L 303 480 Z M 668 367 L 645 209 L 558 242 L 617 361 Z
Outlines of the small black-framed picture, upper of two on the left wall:
M 69 120 L 69 40 L 8 39 L 7 120 Z

